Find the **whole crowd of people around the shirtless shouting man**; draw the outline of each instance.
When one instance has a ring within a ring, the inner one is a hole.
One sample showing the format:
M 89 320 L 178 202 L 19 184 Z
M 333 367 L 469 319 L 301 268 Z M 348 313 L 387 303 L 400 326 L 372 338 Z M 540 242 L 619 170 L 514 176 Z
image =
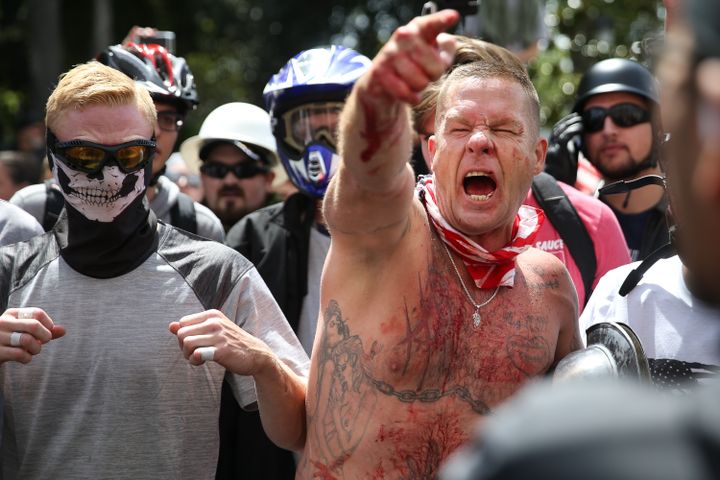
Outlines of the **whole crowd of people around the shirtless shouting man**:
M 717 478 L 720 10 L 665 3 L 549 138 L 453 10 L 181 145 L 165 46 L 61 75 L 44 164 L 0 152 L 0 478 Z

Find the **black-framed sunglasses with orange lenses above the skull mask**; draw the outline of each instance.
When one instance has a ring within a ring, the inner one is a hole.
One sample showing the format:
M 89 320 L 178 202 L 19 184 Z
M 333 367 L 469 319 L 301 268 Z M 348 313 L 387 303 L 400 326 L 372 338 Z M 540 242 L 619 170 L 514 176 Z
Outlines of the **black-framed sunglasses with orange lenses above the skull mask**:
M 124 173 L 141 170 L 155 156 L 155 139 L 132 140 L 119 145 L 102 145 L 86 140 L 58 142 L 55 134 L 47 132 L 48 150 L 73 170 L 97 173 L 113 161 Z

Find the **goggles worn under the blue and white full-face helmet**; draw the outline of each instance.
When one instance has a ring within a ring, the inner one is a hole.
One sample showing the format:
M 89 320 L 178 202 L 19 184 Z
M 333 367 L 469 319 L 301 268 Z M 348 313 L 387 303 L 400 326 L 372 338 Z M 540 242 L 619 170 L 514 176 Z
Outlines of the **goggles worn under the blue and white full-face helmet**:
M 297 154 L 302 154 L 312 142 L 336 148 L 343 105 L 343 102 L 314 102 L 288 110 L 282 115 L 285 127 L 283 142 Z

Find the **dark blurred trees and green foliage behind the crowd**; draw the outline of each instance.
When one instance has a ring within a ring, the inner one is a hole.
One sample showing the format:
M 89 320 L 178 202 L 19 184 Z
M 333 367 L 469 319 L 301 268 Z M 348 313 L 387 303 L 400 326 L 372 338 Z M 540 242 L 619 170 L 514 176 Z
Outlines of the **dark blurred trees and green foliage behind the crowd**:
M 0 144 L 12 147 L 15 129 L 27 117 L 32 93 L 28 68 L 28 22 L 44 0 L 0 0 Z M 92 46 L 93 9 L 98 0 L 54 0 L 63 55 L 61 70 L 84 62 Z M 108 0 L 109 1 L 109 0 Z M 525 0 L 520 0 L 525 1 Z M 269 77 L 292 55 L 316 45 L 341 43 L 372 57 L 392 31 L 420 13 L 409 0 L 123 0 L 112 2 L 111 43 L 132 25 L 177 34 L 177 53 L 195 74 L 201 104 L 187 119 L 183 136 L 197 132 L 213 108 L 229 101 L 262 106 Z M 644 39 L 662 30 L 659 0 L 548 0 L 547 36 L 529 70 L 540 93 L 546 129 L 572 104 L 582 72 L 611 56 L 648 62 Z M 42 53 L 42 52 L 41 52 Z M 42 55 L 40 55 L 42 59 Z M 36 102 L 38 103 L 38 102 Z M 40 104 L 42 104 L 40 102 Z

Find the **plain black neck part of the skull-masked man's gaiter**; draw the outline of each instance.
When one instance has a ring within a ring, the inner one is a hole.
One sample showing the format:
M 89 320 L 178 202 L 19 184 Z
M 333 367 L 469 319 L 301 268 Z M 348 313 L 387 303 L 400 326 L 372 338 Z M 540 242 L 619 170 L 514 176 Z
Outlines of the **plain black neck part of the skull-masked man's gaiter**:
M 155 251 L 157 220 L 144 195 L 112 222 L 88 220 L 65 204 L 55 236 L 60 255 L 76 271 L 94 278 L 128 273 Z

